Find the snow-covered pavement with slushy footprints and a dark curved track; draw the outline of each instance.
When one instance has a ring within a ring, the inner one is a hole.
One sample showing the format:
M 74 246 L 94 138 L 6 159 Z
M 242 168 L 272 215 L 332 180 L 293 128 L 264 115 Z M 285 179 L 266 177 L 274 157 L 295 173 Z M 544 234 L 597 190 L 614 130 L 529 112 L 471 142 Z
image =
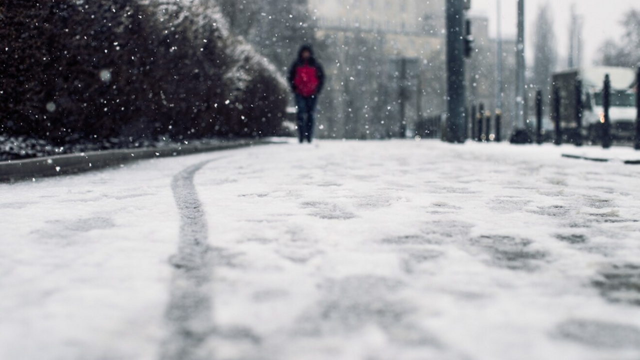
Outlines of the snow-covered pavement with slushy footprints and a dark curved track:
M 570 149 L 270 145 L 0 184 L 0 359 L 639 359 L 640 167 Z

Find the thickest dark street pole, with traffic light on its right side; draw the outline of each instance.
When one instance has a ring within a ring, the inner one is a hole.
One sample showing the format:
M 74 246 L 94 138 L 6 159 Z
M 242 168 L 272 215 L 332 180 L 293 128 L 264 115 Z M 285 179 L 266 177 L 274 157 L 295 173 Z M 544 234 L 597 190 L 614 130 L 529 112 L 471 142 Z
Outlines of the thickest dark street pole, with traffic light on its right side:
M 446 139 L 465 142 L 465 16 L 464 0 L 447 0 L 447 111 Z

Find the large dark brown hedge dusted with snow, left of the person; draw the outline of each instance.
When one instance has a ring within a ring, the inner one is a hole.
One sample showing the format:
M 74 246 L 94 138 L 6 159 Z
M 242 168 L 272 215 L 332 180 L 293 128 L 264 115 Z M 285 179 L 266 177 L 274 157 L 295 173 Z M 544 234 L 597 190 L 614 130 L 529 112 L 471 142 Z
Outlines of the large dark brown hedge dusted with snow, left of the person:
M 0 4 L 0 133 L 268 136 L 287 85 L 212 0 Z

